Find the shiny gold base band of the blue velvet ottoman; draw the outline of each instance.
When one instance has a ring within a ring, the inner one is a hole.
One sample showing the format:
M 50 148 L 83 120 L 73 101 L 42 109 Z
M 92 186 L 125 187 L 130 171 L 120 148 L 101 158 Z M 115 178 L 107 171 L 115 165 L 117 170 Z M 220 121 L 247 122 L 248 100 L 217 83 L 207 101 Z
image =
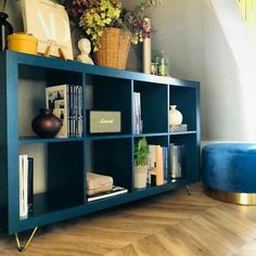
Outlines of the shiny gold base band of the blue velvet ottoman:
M 256 205 L 256 193 L 238 193 L 205 188 L 206 194 L 210 197 L 232 204 Z

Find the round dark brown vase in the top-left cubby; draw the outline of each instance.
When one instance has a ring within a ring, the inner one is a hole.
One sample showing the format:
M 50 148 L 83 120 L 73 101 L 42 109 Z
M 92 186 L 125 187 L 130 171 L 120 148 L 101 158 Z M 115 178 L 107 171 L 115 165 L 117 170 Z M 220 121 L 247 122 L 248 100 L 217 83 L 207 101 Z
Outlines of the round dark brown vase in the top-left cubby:
M 33 120 L 33 130 L 43 139 L 53 138 L 61 129 L 62 121 L 49 108 L 41 108 Z

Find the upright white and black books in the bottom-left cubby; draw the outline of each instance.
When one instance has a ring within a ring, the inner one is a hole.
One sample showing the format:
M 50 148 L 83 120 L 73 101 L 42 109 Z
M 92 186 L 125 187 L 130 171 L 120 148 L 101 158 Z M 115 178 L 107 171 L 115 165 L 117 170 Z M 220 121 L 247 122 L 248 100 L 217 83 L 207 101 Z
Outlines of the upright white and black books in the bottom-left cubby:
M 20 181 L 20 217 L 27 218 L 33 212 L 33 175 L 34 158 L 28 155 L 18 156 L 18 181 Z

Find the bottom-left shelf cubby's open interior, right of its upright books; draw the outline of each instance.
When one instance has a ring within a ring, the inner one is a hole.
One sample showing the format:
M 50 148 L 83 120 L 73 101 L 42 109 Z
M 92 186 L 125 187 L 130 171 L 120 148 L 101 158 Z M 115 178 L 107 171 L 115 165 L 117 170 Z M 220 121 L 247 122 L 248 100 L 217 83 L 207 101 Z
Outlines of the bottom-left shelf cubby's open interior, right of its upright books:
M 18 154 L 34 158 L 31 216 L 85 203 L 82 142 L 22 143 Z

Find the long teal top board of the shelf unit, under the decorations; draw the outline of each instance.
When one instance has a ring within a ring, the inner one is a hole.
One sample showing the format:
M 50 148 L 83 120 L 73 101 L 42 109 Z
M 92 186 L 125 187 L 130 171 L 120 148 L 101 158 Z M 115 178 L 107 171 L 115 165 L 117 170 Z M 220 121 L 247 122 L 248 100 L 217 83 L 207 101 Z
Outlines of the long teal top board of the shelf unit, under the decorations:
M 57 57 L 44 57 L 41 55 L 30 55 L 13 51 L 5 51 L 1 52 L 0 54 L 5 54 L 7 60 L 9 61 L 10 64 L 11 62 L 15 62 L 17 64 L 24 64 L 28 66 L 69 71 L 75 73 L 84 73 L 88 75 L 101 75 L 114 78 L 130 79 L 135 81 L 146 81 L 146 82 L 180 86 L 180 87 L 196 88 L 200 86 L 199 81 L 177 79 L 172 77 L 154 76 L 144 73 L 123 71 L 98 65 L 88 65 L 77 61 L 64 61 Z

